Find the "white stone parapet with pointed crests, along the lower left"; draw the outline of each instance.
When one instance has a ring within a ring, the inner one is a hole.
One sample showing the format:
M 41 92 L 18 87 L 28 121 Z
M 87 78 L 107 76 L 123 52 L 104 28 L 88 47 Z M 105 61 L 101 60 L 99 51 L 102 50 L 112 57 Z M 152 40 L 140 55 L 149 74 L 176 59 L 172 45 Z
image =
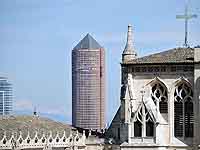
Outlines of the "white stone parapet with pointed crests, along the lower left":
M 0 139 L 0 150 L 18 150 L 18 149 L 43 149 L 49 150 L 54 148 L 72 148 L 72 147 L 82 147 L 85 149 L 85 132 L 83 134 L 70 134 L 68 137 L 66 136 L 65 131 L 62 136 L 59 136 L 57 132 L 56 136 L 52 137 L 52 132 L 50 131 L 48 134 L 44 134 L 41 137 L 38 137 L 38 132 L 35 132 L 33 138 L 30 137 L 28 132 L 26 138 L 22 137 L 22 133 L 19 132 L 19 136 L 14 136 L 12 132 L 11 137 L 7 137 L 6 132 L 4 132 L 3 138 Z

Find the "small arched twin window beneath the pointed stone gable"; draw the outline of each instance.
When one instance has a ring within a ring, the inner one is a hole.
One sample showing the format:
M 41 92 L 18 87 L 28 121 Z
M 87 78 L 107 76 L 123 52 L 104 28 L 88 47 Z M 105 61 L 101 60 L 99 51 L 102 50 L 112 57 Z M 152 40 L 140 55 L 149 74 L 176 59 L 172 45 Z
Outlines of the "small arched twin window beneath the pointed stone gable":
M 134 136 L 135 137 L 154 136 L 154 122 L 144 104 L 141 105 L 135 117 Z

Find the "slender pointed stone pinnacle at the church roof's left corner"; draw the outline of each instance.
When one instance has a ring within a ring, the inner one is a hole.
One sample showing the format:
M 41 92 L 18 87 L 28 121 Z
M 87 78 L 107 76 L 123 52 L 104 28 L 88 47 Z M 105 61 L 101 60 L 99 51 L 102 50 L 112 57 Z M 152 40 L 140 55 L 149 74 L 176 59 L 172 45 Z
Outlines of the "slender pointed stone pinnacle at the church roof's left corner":
M 127 32 L 127 41 L 124 51 L 122 53 L 122 62 L 127 62 L 129 60 L 135 59 L 137 54 L 134 50 L 133 46 L 133 35 L 132 35 L 132 26 L 128 25 L 128 32 Z

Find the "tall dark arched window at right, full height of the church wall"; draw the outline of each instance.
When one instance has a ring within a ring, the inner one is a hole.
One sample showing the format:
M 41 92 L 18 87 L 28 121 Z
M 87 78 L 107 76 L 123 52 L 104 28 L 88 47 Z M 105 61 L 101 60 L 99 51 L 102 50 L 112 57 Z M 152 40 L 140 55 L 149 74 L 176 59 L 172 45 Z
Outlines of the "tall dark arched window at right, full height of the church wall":
M 174 92 L 174 135 L 193 137 L 193 92 L 185 82 L 179 84 Z

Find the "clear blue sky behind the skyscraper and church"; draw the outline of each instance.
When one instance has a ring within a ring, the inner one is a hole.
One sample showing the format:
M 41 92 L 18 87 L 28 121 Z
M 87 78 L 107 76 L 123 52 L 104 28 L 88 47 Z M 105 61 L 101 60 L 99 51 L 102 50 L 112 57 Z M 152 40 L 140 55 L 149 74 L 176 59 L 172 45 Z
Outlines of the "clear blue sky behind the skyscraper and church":
M 183 45 L 182 0 L 0 0 L 0 76 L 13 84 L 14 110 L 71 123 L 71 50 L 90 33 L 106 49 L 107 122 L 120 103 L 120 62 L 127 25 L 139 56 Z M 200 44 L 199 17 L 189 43 Z

